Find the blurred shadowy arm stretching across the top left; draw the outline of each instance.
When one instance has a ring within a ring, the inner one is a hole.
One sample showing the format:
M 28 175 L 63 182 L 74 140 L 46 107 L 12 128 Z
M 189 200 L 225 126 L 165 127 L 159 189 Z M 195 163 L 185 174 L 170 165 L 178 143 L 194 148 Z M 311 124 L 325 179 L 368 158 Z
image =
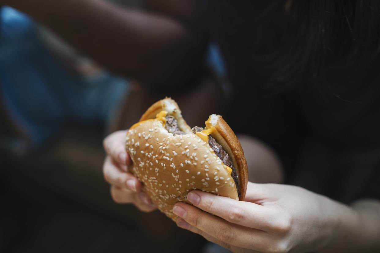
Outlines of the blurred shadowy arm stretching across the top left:
M 29 14 L 110 70 L 146 83 L 185 82 L 199 71 L 206 48 L 203 31 L 191 27 L 192 23 L 183 25 L 170 17 L 121 9 L 105 1 L 1 3 Z M 197 11 L 192 6 L 189 16 Z

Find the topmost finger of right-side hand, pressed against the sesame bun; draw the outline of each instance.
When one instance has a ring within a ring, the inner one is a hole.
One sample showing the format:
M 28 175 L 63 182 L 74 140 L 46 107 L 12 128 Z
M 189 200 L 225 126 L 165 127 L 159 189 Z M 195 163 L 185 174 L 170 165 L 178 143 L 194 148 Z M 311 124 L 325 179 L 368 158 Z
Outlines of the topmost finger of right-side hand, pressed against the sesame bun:
M 280 216 L 272 206 L 260 206 L 202 191 L 188 193 L 187 200 L 199 209 L 228 222 L 264 231 L 272 230 Z

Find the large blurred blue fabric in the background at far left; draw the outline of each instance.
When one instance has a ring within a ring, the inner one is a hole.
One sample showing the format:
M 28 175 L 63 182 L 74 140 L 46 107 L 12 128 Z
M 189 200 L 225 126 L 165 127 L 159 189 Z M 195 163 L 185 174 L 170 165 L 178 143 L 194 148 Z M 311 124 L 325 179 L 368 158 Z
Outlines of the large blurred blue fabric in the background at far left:
M 67 71 L 41 43 L 35 23 L 10 7 L 0 10 L 0 26 L 2 101 L 34 146 L 72 121 L 108 123 L 127 93 L 125 79 Z

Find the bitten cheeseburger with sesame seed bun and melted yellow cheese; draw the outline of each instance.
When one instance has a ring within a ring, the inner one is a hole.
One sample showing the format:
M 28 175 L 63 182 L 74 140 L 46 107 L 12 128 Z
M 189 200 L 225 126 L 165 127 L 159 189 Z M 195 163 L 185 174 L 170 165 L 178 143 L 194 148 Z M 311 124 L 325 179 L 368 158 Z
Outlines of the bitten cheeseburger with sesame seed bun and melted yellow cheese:
M 128 130 L 130 171 L 161 212 L 176 220 L 175 203 L 191 190 L 243 200 L 247 162 L 239 140 L 220 115 L 189 127 L 170 98 L 153 104 Z

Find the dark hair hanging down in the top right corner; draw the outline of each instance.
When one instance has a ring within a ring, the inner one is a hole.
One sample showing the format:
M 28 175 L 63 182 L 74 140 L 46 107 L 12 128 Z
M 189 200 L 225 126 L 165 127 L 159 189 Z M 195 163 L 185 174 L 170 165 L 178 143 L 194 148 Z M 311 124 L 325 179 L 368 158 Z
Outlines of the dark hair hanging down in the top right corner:
M 278 50 L 267 56 L 266 88 L 293 88 L 323 69 L 365 68 L 380 49 L 380 1 L 290 0 L 288 27 Z M 282 6 L 287 4 L 283 1 Z

